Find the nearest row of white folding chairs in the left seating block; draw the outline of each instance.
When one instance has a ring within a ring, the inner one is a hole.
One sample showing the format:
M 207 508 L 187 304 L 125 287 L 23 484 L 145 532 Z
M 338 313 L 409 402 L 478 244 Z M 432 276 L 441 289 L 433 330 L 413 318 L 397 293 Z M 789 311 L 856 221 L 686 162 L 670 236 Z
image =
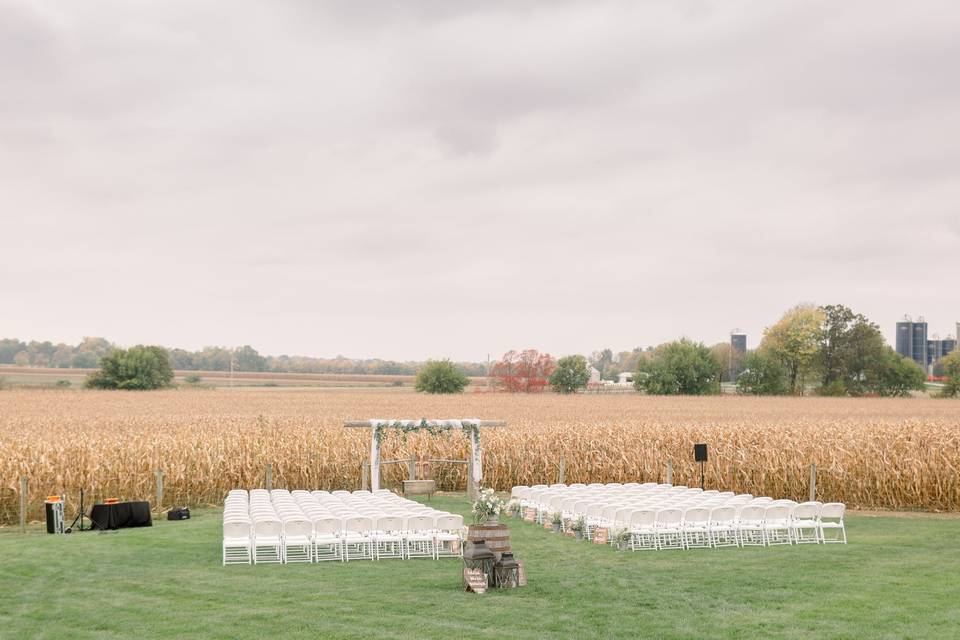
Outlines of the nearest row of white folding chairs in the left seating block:
M 463 517 L 224 520 L 223 563 L 260 564 L 462 555 Z

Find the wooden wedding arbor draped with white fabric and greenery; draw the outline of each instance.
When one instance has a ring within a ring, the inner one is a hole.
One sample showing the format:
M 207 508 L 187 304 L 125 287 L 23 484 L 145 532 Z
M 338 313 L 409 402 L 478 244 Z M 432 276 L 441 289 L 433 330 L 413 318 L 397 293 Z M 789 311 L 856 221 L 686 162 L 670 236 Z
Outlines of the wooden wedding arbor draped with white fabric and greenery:
M 343 423 L 344 427 L 352 429 L 370 429 L 370 490 L 376 491 L 380 488 L 380 445 L 387 437 L 390 429 L 398 433 L 410 433 L 413 431 L 427 431 L 430 434 L 437 435 L 452 431 L 462 431 L 470 438 L 470 460 L 472 469 L 472 486 L 480 487 L 483 480 L 483 449 L 480 447 L 480 429 L 491 427 L 505 427 L 505 420 L 478 420 L 476 418 L 460 420 L 384 420 L 373 418 L 371 420 L 348 420 Z M 473 496 L 471 496 L 473 497 Z

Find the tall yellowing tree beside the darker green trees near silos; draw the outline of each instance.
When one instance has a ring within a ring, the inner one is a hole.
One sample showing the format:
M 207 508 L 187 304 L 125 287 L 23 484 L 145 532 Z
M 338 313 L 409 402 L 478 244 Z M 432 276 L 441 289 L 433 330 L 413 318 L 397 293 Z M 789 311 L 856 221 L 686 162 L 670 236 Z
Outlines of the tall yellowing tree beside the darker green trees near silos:
M 817 307 L 797 305 L 763 332 L 760 347 L 786 367 L 791 393 L 803 395 L 806 378 L 813 372 L 823 318 L 823 311 Z

